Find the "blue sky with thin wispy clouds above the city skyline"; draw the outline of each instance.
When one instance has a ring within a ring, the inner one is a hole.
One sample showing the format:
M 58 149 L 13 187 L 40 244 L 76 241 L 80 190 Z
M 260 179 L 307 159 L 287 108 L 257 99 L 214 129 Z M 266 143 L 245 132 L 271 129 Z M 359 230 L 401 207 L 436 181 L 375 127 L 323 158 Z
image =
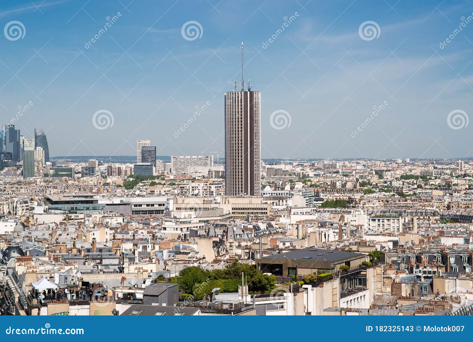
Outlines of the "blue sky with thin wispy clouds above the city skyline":
M 26 31 L 0 35 L 0 113 L 6 123 L 31 101 L 16 126 L 25 137 L 47 131 L 52 156 L 133 155 L 137 139 L 162 155 L 223 151 L 223 96 L 240 84 L 242 41 L 245 79 L 262 92 L 263 158 L 473 155 L 473 123 L 447 122 L 473 115 L 473 22 L 454 33 L 472 1 L 32 1 L 0 2 L 1 27 Z M 188 21 L 200 38 L 184 39 Z M 366 21 L 377 38 L 359 35 Z M 100 110 L 113 126 L 94 127 Z M 274 111 L 290 126 L 274 129 Z

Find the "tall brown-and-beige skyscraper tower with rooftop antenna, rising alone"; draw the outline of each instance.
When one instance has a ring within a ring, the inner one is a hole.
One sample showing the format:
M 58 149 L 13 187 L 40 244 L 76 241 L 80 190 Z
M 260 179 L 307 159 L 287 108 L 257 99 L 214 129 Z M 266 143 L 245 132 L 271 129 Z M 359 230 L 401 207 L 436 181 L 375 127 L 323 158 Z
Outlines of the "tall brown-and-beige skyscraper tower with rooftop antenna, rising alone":
M 226 196 L 261 196 L 261 93 L 250 89 L 225 93 Z

